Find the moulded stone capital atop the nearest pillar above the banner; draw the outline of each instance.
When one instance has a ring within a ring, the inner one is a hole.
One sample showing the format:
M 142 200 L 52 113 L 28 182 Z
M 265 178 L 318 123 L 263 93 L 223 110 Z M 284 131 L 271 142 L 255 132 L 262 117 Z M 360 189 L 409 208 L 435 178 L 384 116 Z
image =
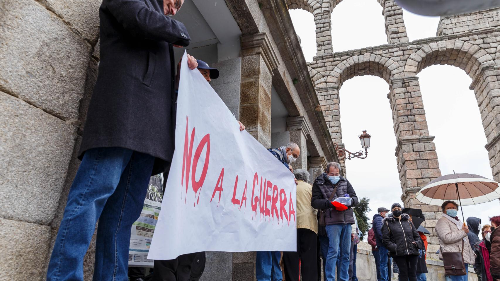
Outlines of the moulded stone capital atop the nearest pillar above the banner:
M 279 65 L 276 52 L 271 45 L 267 33 L 260 32 L 241 36 L 241 56 L 260 54 L 271 75 Z

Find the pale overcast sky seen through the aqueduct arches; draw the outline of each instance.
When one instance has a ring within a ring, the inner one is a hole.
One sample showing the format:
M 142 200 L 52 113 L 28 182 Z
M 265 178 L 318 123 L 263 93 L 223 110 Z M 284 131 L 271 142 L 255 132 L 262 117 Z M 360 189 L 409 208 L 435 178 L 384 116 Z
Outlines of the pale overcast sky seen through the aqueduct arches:
M 342 1 L 332 12 L 333 51 L 345 51 L 386 44 L 382 8 L 375 0 Z M 295 31 L 301 38 L 305 59 L 316 54 L 314 18 L 305 10 L 290 10 Z M 403 12 L 409 40 L 434 37 L 438 17 L 424 17 Z M 461 69 L 433 65 L 417 74 L 425 108 L 429 134 L 435 136 L 441 174 L 470 173 L 492 179 L 486 137 L 481 125 L 474 92 L 468 87 L 471 78 Z M 361 130 L 371 134 L 368 158 L 348 160 L 347 178 L 359 198 L 370 198 L 369 218 L 378 207 L 390 208 L 401 203 L 396 139 L 387 83 L 376 76 L 357 76 L 345 81 L 340 89 L 340 122 L 345 148 L 358 151 Z M 500 215 L 499 202 L 465 206 L 465 218 L 475 216 L 482 224 L 488 217 Z

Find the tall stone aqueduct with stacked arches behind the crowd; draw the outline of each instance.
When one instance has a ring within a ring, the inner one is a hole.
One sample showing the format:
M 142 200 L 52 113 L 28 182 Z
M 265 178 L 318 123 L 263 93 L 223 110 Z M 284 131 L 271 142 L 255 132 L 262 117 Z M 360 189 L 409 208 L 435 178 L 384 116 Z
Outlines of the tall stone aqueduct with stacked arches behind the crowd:
M 289 8 L 302 8 L 315 16 L 317 53 L 308 63 L 309 72 L 334 143 L 342 145 L 339 113 L 342 83 L 360 75 L 375 75 L 387 82 L 397 139 L 395 156 L 401 200 L 405 207 L 422 210 L 426 217 L 424 227 L 432 233 L 428 252 L 435 253 L 438 243 L 434 226 L 442 213 L 439 207 L 422 205 L 414 199 L 419 189 L 441 176 L 417 74 L 430 65 L 448 64 L 469 75 L 472 80 L 469 88 L 474 90 L 487 138 L 485 148 L 493 178 L 499 181 L 500 8 L 442 17 L 436 37 L 408 42 L 401 7 L 393 0 L 378 2 L 383 7 L 387 44 L 333 52 L 324 48 L 331 46 L 331 20 L 326 21 L 322 15 L 331 14 L 338 0 L 287 0 Z

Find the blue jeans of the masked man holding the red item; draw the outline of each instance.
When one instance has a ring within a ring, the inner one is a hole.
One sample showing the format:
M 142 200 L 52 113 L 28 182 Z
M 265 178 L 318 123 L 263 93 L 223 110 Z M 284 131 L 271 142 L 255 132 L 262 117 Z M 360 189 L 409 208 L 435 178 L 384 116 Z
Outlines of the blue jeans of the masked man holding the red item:
M 335 266 L 339 261 L 338 280 L 349 279 L 350 224 L 327 225 L 328 253 L 326 254 L 326 281 L 335 281 Z

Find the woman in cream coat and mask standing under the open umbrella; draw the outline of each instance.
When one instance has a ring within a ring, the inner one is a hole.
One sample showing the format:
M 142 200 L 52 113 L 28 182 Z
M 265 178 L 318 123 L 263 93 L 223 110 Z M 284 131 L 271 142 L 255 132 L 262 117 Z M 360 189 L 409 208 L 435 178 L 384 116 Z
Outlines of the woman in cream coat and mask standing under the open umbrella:
M 467 239 L 468 227 L 457 217 L 458 204 L 446 201 L 441 205 L 442 218 L 437 221 L 435 231 L 439 239 L 439 259 L 442 260 L 443 252 L 461 252 L 463 242 L 463 262 L 465 272 L 463 276 L 451 276 L 452 281 L 467 281 L 468 265 L 475 262 L 475 254 Z

